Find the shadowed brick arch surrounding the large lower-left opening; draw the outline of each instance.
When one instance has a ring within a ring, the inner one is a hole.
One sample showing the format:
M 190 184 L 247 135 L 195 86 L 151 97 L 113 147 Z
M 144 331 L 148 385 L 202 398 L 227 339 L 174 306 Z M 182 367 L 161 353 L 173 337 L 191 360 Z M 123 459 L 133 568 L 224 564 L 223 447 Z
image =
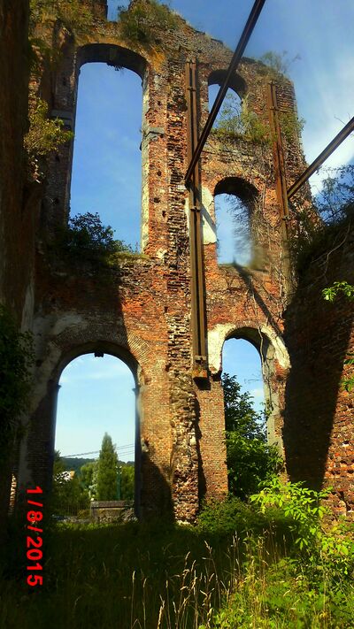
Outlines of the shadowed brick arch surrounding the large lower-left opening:
M 148 344 L 135 334 L 127 334 L 121 325 L 98 325 L 85 318 L 66 313 L 57 321 L 41 318 L 38 329 L 50 330 L 50 338 L 37 348 L 37 372 L 33 396 L 33 414 L 23 441 L 19 462 L 19 485 L 35 483 L 49 491 L 54 459 L 55 425 L 58 402 L 58 383 L 65 366 L 74 358 L 99 352 L 118 357 L 135 379 L 135 511 L 140 515 L 142 492 L 142 442 L 144 367 L 152 360 Z M 41 356 L 42 355 L 42 356 Z M 142 362 L 141 362 L 142 361 Z M 155 361 L 156 362 L 156 361 Z

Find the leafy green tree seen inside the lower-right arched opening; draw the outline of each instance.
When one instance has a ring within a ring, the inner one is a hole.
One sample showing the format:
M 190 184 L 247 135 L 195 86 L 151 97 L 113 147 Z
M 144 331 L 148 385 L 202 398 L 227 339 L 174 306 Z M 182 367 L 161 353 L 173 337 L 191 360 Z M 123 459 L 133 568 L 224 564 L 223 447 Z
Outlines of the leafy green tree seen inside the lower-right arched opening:
M 266 417 L 254 410 L 249 393 L 241 393 L 235 376 L 222 376 L 225 402 L 229 491 L 245 500 L 281 468 L 276 446 L 266 443 Z

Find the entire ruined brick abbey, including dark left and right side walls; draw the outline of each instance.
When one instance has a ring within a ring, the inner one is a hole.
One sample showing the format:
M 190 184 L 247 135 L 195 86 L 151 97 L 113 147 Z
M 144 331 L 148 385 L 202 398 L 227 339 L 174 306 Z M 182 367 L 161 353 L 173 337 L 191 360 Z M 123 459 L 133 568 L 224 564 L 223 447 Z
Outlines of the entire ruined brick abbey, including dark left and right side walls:
M 89 34 L 74 37 L 54 23 L 58 61 L 43 60 L 34 75 L 26 4 L 1 0 L 0 300 L 33 332 L 35 368 L 25 429 L 1 479 L 2 507 L 11 471 L 18 492 L 29 483 L 50 488 L 58 380 L 73 358 L 96 351 L 121 358 L 135 376 L 137 514 L 170 510 L 193 521 L 205 496 L 227 493 L 221 357 L 224 341 L 241 338 L 261 357 L 268 438 L 285 473 L 333 487 L 335 512 L 352 513 L 353 392 L 341 387 L 354 345 L 352 306 L 328 304 L 320 291 L 335 280 L 354 283 L 354 235 L 296 277 L 289 239 L 301 233 L 311 199 L 305 187 L 284 215 L 279 159 L 289 185 L 305 167 L 296 125 L 281 146 L 276 137 L 281 120 L 296 117 L 291 82 L 242 59 L 230 88 L 247 96 L 271 141 L 225 145 L 211 134 L 195 204 L 185 183 L 190 142 L 208 116 L 208 86 L 221 84 L 232 51 L 179 16 L 167 34 L 157 29 L 154 45 L 128 42 L 106 19 L 104 0 L 82 0 L 95 14 Z M 69 215 L 73 142 L 50 156 L 42 181 L 27 180 L 23 157 L 28 85 L 74 131 L 80 69 L 95 62 L 137 73 L 143 95 L 141 254 L 100 270 L 49 253 Z M 218 264 L 214 197 L 222 193 L 248 208 L 249 267 Z

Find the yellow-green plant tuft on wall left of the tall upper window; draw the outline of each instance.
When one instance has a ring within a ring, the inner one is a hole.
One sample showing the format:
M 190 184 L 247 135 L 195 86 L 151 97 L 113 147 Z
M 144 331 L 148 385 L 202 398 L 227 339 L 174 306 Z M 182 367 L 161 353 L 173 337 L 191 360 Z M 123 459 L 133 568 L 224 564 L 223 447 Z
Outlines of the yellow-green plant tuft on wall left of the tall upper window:
M 47 157 L 59 146 L 73 139 L 73 132 L 66 131 L 63 120 L 48 118 L 48 105 L 34 99 L 28 111 L 29 130 L 24 145 L 28 156 L 30 179 L 41 181 L 44 177 L 42 157 Z

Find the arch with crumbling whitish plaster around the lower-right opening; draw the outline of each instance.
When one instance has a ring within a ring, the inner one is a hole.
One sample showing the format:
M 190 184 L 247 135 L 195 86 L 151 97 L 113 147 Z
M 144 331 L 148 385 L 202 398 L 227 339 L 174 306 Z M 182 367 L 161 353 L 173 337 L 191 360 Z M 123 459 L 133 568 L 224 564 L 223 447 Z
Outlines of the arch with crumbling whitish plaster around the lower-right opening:
M 286 376 L 289 371 L 289 354 L 280 334 L 276 334 L 266 323 L 243 321 L 219 324 L 208 334 L 210 369 L 214 373 L 222 371 L 222 349 L 228 339 L 249 341 L 258 350 L 262 365 L 265 400 L 269 404 L 267 436 L 270 443 L 276 443 L 282 452 L 282 414 Z

